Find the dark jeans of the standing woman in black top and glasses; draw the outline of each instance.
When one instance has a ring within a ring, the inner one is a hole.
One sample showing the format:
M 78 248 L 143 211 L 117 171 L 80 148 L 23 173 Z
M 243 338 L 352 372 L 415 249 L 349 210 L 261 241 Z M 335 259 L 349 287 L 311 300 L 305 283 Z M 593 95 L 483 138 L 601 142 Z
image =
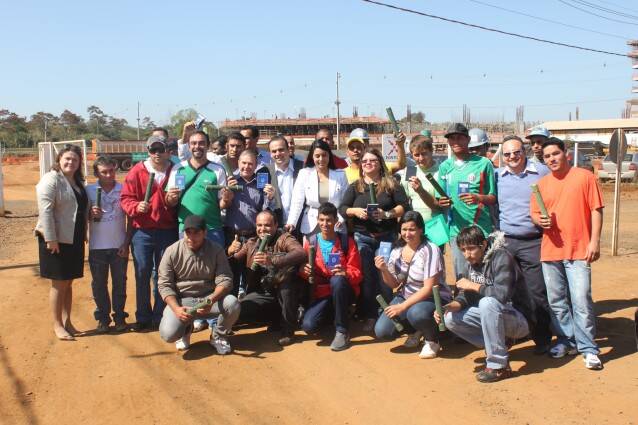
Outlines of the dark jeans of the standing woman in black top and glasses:
M 383 283 L 379 270 L 374 265 L 374 257 L 379 248 L 379 242 L 394 242 L 394 233 L 388 232 L 378 238 L 355 232 L 354 240 L 361 257 L 361 294 L 357 302 L 357 312 L 364 319 L 376 319 L 379 316 L 377 295 L 381 294 L 386 300 L 392 298 L 392 289 Z

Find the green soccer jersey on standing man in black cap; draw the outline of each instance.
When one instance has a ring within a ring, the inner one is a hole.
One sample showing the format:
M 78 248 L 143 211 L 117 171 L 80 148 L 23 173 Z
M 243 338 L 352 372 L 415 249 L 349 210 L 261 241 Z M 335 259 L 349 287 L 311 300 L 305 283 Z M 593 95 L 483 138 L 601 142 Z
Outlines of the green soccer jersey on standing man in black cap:
M 459 186 L 467 186 L 468 193 L 496 195 L 494 167 L 489 159 L 477 155 L 470 155 L 467 161 L 455 157 L 448 158 L 439 166 L 438 181 L 452 199 L 451 237 L 455 237 L 461 229 L 472 224 L 480 227 L 485 235 L 492 232 L 494 225 L 487 205 L 467 205 L 459 198 Z

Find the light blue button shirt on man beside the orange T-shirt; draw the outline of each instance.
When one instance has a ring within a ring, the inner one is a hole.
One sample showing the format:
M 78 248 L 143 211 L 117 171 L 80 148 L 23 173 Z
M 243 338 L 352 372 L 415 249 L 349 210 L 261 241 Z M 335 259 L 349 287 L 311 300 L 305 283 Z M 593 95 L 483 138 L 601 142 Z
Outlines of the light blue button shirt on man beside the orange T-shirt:
M 499 229 L 506 236 L 521 238 L 540 237 L 542 229 L 537 227 L 529 215 L 531 185 L 549 174 L 549 169 L 539 163 L 527 161 L 525 169 L 514 174 L 509 167 L 495 171 L 498 196 Z

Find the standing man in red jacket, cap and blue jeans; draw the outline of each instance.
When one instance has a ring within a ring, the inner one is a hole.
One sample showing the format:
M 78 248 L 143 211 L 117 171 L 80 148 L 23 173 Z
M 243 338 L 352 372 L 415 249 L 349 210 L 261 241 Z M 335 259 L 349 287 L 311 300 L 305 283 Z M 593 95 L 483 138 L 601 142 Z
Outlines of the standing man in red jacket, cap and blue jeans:
M 135 164 L 124 179 L 122 209 L 130 217 L 133 226 L 131 248 L 135 265 L 135 295 L 137 323 L 133 330 L 142 331 L 159 326 L 164 311 L 164 301 L 157 290 L 157 274 L 153 282 L 155 304 L 151 308 L 149 281 L 158 270 L 164 250 L 177 241 L 177 216 L 175 206 L 179 200 L 178 188 L 167 188 L 172 163 L 164 136 L 151 136 L 146 141 L 149 158 Z M 151 195 L 145 201 L 150 174 L 154 173 Z

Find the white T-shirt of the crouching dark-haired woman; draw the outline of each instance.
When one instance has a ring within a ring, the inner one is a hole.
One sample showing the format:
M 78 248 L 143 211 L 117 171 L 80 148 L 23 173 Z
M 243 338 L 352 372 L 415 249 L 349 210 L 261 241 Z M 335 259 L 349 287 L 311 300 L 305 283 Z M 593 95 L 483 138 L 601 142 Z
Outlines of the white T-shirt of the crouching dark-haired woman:
M 392 250 L 390 259 L 388 260 L 388 270 L 399 281 L 405 280 L 405 284 L 400 291 L 403 298 L 407 299 L 423 288 L 425 279 L 429 279 L 439 273 L 435 284 L 439 285 L 441 298 L 449 300 L 451 298 L 451 292 L 445 283 L 445 265 L 439 247 L 432 242 L 421 244 L 414 253 L 410 263 L 401 258 L 402 250 L 402 247 Z

